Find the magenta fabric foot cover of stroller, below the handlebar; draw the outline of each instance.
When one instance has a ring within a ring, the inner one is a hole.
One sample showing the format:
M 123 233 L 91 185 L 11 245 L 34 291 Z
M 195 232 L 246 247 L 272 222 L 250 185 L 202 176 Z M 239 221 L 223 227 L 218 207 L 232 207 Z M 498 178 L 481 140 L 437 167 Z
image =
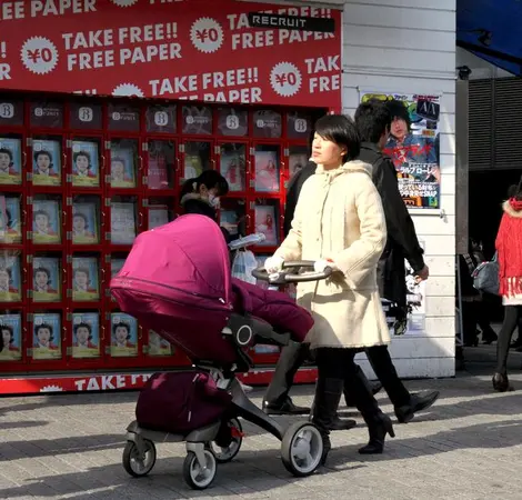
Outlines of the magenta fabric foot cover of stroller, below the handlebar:
M 234 310 L 242 308 L 272 326 L 280 333 L 291 333 L 297 342 L 304 341 L 313 327 L 312 314 L 287 293 L 264 290 L 261 287 L 232 278 L 235 294 Z

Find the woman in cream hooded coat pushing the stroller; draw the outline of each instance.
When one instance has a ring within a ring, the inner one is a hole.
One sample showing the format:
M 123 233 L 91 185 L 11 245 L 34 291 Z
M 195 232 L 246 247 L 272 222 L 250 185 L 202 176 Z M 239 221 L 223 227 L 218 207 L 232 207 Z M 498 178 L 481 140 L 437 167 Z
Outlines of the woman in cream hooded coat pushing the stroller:
M 317 353 L 312 421 L 324 440 L 323 463 L 331 448 L 329 428 L 345 381 L 370 434 L 359 452 L 382 453 L 387 434 L 394 437 L 391 420 L 357 377 L 354 362 L 362 348 L 390 343 L 377 283 L 377 264 L 387 240 L 385 220 L 371 167 L 354 160 L 359 150 L 359 136 L 350 118 L 327 116 L 317 122 L 312 160 L 318 169 L 303 184 L 292 229 L 265 261 L 269 273 L 293 260 L 315 260 L 315 271 L 327 267 L 334 271 L 327 281 L 298 287 L 299 304 L 314 319 L 307 342 Z

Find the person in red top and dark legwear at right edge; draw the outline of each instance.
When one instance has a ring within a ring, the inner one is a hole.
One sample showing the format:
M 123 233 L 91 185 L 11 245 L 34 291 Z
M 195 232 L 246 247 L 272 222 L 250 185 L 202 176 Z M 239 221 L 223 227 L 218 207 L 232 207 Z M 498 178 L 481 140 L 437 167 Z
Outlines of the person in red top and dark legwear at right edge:
M 508 354 L 513 332 L 522 316 L 522 178 L 508 190 L 508 200 L 500 222 L 495 247 L 499 261 L 500 294 L 504 306 L 504 322 L 496 343 L 496 370 L 493 389 L 512 390 L 508 379 Z

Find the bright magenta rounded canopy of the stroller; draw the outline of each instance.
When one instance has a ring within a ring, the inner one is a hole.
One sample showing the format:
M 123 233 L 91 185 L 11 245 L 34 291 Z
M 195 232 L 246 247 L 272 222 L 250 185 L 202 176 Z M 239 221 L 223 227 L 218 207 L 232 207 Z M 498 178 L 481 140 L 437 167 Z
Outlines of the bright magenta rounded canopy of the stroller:
M 122 288 L 197 304 L 202 314 L 204 309 L 230 311 L 229 252 L 219 226 L 188 214 L 141 233 L 111 281 L 111 289 Z

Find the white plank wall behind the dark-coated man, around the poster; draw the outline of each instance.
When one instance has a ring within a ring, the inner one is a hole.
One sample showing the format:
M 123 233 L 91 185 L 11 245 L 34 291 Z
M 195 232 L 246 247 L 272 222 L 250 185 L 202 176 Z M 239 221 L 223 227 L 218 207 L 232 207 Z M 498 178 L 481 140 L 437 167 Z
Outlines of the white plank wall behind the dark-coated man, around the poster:
M 359 88 L 442 92 L 441 197 L 444 217 L 413 216 L 425 241 L 428 336 L 395 337 L 401 377 L 454 374 L 455 2 L 357 0 L 344 3 L 343 108 L 353 114 Z M 368 361 L 362 366 L 372 376 Z

